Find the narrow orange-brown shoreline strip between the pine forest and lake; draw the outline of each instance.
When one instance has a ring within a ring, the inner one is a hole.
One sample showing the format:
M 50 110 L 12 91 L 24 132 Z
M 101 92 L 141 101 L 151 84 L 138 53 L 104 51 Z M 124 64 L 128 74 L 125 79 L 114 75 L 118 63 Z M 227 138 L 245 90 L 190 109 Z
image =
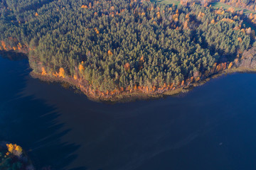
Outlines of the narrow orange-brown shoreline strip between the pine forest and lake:
M 210 77 L 206 77 L 205 79 L 202 79 L 200 81 L 193 82 L 189 84 L 188 86 L 181 86 L 176 89 L 169 89 L 166 91 L 163 91 L 162 93 L 159 92 L 150 92 L 145 93 L 144 91 L 122 91 L 119 94 L 116 94 L 114 96 L 100 96 L 97 94 L 90 93 L 86 89 L 89 89 L 89 85 L 82 84 L 82 80 L 75 80 L 71 77 L 68 78 L 62 78 L 62 77 L 53 77 L 50 75 L 42 75 L 38 74 L 36 72 L 31 72 L 30 75 L 34 79 L 40 79 L 41 81 L 47 81 L 47 82 L 57 82 L 57 83 L 65 83 L 68 84 L 68 86 L 73 87 L 73 89 L 78 89 L 82 94 L 85 94 L 87 98 L 89 98 L 92 101 L 97 102 L 106 102 L 106 103 L 127 103 L 131 101 L 137 101 L 137 100 L 150 100 L 150 99 L 157 99 L 157 98 L 164 98 L 166 96 L 176 96 L 178 94 L 185 94 L 188 91 L 193 90 L 196 86 L 202 86 L 203 84 L 206 84 L 206 82 L 210 81 L 211 79 L 215 79 L 218 77 L 221 77 L 223 75 L 227 74 L 233 74 L 233 73 L 247 73 L 247 72 L 256 72 L 256 69 L 250 69 L 246 67 L 234 67 L 231 69 L 224 69 L 216 74 L 211 75 Z

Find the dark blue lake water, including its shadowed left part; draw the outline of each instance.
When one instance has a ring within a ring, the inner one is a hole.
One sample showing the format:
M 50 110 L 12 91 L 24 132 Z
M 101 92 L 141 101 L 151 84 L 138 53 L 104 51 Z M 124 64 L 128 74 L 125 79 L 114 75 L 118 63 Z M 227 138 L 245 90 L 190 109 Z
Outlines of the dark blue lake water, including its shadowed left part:
M 0 57 L 0 140 L 38 169 L 256 169 L 256 75 L 213 79 L 186 95 L 95 103 Z

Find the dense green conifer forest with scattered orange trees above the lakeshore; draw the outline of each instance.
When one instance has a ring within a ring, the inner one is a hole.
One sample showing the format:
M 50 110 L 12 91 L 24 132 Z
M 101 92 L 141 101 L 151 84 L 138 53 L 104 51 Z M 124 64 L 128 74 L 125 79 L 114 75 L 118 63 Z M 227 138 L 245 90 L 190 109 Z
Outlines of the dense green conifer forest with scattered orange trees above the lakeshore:
M 240 16 L 200 4 L 139 0 L 1 0 L 1 50 L 29 52 L 34 72 L 113 91 L 208 77 L 252 47 Z M 223 63 L 223 64 L 220 64 Z

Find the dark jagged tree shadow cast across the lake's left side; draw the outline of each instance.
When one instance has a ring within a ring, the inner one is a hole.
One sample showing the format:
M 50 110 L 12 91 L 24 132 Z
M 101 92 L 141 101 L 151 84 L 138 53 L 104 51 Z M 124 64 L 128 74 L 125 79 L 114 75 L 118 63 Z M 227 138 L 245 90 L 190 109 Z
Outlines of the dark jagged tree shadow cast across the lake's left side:
M 0 96 L 0 140 L 21 145 L 36 169 L 66 169 L 76 159 L 74 152 L 80 147 L 75 143 L 61 142 L 61 137 L 70 129 L 63 128 L 64 124 L 58 122 L 60 113 L 54 106 L 34 96 L 21 95 L 29 73 L 26 60 L 11 62 L 0 57 L 2 65 L 1 72 L 12 74 L 9 79 L 0 74 L 0 79 L 4 79 L 0 84 L 4 89 Z M 12 69 L 17 67 L 21 69 Z M 24 73 L 24 70 L 27 71 Z M 85 169 L 78 167 L 74 170 Z

